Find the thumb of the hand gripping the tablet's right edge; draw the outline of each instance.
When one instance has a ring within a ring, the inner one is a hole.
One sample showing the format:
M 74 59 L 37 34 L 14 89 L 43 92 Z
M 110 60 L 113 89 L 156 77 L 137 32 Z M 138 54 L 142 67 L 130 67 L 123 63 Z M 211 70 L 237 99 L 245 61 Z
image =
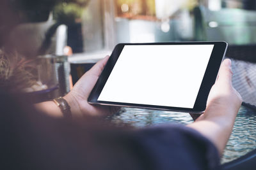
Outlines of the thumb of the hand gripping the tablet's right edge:
M 225 59 L 221 63 L 217 82 L 232 82 L 231 60 Z

